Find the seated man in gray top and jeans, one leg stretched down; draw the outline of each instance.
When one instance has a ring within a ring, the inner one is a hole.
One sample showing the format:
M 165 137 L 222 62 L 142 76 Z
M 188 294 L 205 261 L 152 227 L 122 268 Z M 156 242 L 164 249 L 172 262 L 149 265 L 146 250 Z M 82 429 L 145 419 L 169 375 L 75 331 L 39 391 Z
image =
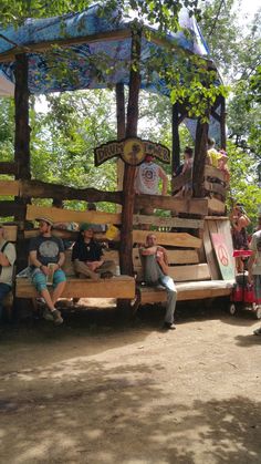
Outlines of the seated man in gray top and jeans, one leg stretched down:
M 171 277 L 168 276 L 168 258 L 164 247 L 157 245 L 154 234 L 148 234 L 146 245 L 140 249 L 145 283 L 150 287 L 163 286 L 167 290 L 167 308 L 164 329 L 175 330 L 174 312 L 177 301 L 177 290 Z

